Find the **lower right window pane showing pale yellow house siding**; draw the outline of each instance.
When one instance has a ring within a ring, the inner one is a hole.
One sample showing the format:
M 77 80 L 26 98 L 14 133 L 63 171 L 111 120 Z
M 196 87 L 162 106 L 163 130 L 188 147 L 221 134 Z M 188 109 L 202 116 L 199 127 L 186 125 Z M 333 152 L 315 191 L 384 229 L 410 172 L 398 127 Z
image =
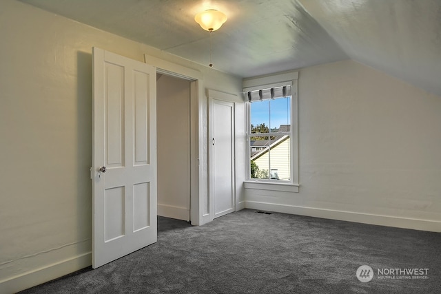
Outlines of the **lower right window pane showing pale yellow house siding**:
M 271 179 L 291 180 L 290 136 L 278 137 L 271 143 Z

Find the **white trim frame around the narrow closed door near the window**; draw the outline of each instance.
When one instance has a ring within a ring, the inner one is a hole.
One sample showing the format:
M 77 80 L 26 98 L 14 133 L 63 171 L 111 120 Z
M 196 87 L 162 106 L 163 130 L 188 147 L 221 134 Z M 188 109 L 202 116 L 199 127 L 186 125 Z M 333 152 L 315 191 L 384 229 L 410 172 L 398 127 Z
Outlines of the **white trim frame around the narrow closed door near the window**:
M 233 197 L 233 203 L 234 203 L 234 207 L 233 207 L 233 211 L 237 211 L 238 210 L 238 199 L 236 196 L 236 133 L 235 133 L 235 125 L 236 125 L 236 103 L 234 101 L 237 100 L 237 96 L 234 94 L 228 94 L 228 93 L 224 93 L 224 92 L 220 92 L 220 91 L 216 91 L 216 90 L 211 90 L 211 89 L 207 89 L 207 97 L 209 100 L 209 111 L 208 111 L 208 132 L 209 132 L 209 139 L 213 138 L 213 100 L 216 101 L 220 101 L 220 102 L 225 102 L 225 103 L 231 103 L 233 105 L 233 114 L 232 114 L 232 129 L 233 129 L 233 134 L 232 134 L 232 154 L 233 154 L 233 163 L 232 163 L 232 197 Z M 213 161 L 214 161 L 214 154 L 211 148 L 211 143 L 212 141 L 209 140 L 209 148 L 208 148 L 208 153 L 209 153 L 209 163 L 208 163 L 208 170 L 209 170 L 209 218 L 210 221 L 214 220 L 215 217 L 215 213 L 216 211 L 214 210 L 214 165 L 213 165 Z

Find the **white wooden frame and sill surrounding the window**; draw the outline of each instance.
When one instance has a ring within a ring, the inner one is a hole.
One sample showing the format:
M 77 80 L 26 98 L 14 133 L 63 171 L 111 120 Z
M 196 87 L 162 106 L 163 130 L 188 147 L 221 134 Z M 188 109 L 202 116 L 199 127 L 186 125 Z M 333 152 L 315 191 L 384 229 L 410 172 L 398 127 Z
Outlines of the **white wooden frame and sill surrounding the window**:
M 260 179 L 251 178 L 251 103 L 245 97 L 246 104 L 246 117 L 245 117 L 245 130 L 246 130 L 246 143 L 247 143 L 247 180 L 245 180 L 245 188 L 248 189 L 264 189 L 272 191 L 288 191 L 298 192 L 298 72 L 284 72 L 280 74 L 273 74 L 269 76 L 258 76 L 254 78 L 245 78 L 243 80 L 243 92 L 247 93 L 249 90 L 256 90 L 256 88 L 267 88 L 274 85 L 280 85 L 285 83 L 291 85 L 291 127 L 290 127 L 290 157 L 291 157 L 291 179 L 287 180 L 275 180 L 275 179 Z M 252 134 L 253 136 L 269 136 L 271 133 L 265 134 Z M 270 167 L 271 169 L 271 167 Z

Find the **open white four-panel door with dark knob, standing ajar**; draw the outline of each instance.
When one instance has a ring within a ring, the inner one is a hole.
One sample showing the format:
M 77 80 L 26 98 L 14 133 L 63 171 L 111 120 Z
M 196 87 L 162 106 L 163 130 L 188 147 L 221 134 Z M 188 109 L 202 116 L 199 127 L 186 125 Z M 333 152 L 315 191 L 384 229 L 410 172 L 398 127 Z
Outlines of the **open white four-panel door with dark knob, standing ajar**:
M 156 242 L 156 68 L 93 48 L 92 266 Z

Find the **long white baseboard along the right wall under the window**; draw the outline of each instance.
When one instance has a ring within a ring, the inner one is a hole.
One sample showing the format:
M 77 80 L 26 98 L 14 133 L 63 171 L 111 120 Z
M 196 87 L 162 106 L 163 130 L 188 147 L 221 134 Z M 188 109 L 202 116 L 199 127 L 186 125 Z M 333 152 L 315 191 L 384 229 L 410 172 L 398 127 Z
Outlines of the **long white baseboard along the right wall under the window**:
M 273 204 L 257 201 L 245 201 L 245 208 L 274 211 L 280 213 L 312 216 L 314 218 L 328 218 L 331 220 L 345 220 L 347 222 L 361 222 L 363 224 L 376 224 L 402 229 L 441 232 L 441 222 L 435 220 L 418 220 L 413 218 L 397 218 L 394 216 L 379 216 L 351 211 L 336 211 L 330 209 L 317 209 L 312 207 L 297 207 L 294 205 Z

